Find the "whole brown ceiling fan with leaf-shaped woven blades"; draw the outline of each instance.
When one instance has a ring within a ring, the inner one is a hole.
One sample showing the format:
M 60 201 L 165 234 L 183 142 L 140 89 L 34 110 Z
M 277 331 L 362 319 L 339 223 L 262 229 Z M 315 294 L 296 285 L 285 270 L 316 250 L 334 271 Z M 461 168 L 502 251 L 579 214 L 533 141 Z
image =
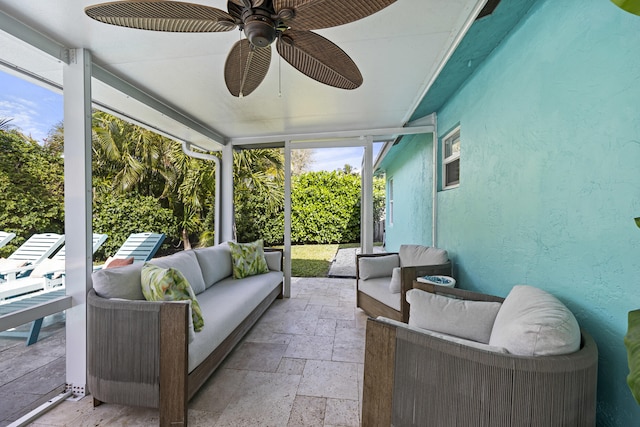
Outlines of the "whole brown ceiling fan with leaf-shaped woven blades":
M 85 8 L 100 22 L 170 32 L 243 30 L 246 39 L 227 56 L 224 78 L 237 97 L 253 92 L 267 75 L 271 44 L 294 68 L 341 89 L 362 84 L 358 66 L 336 44 L 310 30 L 335 27 L 372 15 L 396 0 L 229 0 L 228 12 L 172 0 L 125 0 Z

